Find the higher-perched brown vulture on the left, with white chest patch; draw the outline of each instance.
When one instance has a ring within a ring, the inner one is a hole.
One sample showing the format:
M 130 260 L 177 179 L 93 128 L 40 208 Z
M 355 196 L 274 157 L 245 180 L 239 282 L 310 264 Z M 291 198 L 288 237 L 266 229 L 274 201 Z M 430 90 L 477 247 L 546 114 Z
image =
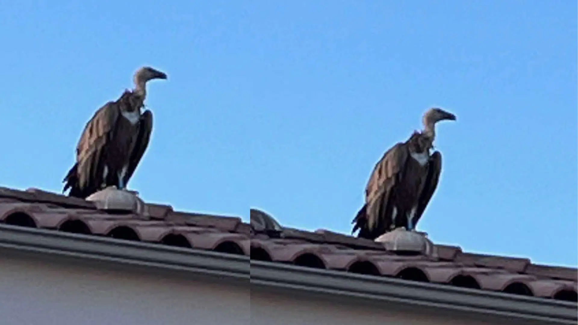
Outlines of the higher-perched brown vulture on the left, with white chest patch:
M 64 178 L 62 193 L 70 188 L 69 196 L 86 198 L 108 186 L 126 189 L 153 129 L 153 113 L 140 112 L 146 83 L 166 79 L 166 74 L 142 67 L 133 79 L 134 89 L 103 105 L 84 127 L 76 146 L 76 163 Z

